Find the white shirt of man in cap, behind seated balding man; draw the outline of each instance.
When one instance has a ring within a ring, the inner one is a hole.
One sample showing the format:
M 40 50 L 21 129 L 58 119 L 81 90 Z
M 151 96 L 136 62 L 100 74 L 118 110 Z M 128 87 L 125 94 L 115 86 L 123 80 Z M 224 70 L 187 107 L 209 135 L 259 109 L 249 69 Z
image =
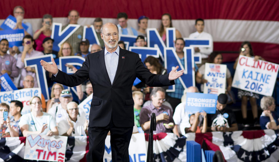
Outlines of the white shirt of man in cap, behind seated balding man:
M 57 107 L 57 112 L 56 112 L 56 107 Z M 56 123 L 59 123 L 61 120 L 66 120 L 67 121 L 66 118 L 69 117 L 69 114 L 67 113 L 67 111 L 64 108 L 62 108 L 61 103 L 58 104 L 57 106 L 52 106 L 49 109 L 48 113 L 53 116 Z M 55 113 L 56 113 L 56 115 L 55 115 Z M 81 108 L 78 109 L 78 113 L 79 113 L 81 118 L 86 119 L 85 112 Z

